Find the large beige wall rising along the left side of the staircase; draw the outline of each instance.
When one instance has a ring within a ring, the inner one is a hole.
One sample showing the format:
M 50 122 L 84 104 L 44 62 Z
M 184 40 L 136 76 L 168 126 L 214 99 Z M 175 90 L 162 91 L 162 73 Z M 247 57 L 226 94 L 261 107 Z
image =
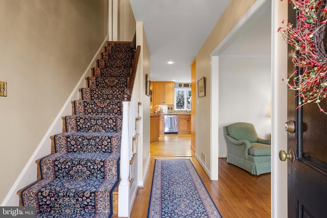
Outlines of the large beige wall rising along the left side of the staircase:
M 107 0 L 0 2 L 0 81 L 8 87 L 0 97 L 0 202 L 106 38 L 107 20 Z

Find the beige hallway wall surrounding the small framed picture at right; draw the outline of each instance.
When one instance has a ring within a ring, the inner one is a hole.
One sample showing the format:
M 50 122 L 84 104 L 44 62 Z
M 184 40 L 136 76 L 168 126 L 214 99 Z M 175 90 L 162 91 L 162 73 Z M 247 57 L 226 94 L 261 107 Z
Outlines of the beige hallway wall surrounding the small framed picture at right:
M 255 0 L 231 0 L 223 15 L 216 23 L 201 49 L 196 55 L 196 80 L 206 78 L 206 96 L 198 98 L 196 103 L 196 154 L 206 155 L 206 168 L 210 171 L 210 101 L 211 101 L 211 53 L 239 22 Z

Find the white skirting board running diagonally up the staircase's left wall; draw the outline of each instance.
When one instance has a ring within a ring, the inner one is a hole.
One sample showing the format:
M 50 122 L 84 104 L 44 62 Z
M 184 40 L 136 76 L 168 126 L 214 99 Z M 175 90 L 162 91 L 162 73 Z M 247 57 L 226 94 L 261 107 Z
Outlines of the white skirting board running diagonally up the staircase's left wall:
M 58 134 L 62 132 L 62 116 L 72 115 L 72 101 L 79 99 L 79 89 L 85 87 L 85 77 L 91 76 L 91 68 L 95 67 L 96 60 L 99 59 L 99 55 L 103 51 L 103 46 L 105 46 L 108 40 L 108 35 L 105 37 L 103 43 L 101 44 L 99 50 L 89 63 L 88 67 L 86 68 L 84 74 L 82 75 L 81 79 L 75 86 L 74 90 L 72 91 L 71 95 L 69 95 L 66 103 L 61 108 L 60 112 L 56 116 L 54 122 L 50 126 L 49 130 L 45 133 L 44 137 L 42 138 L 41 142 L 39 143 L 38 147 L 34 151 L 33 155 L 25 165 L 24 169 L 16 179 L 14 185 L 9 190 L 5 200 L 2 202 L 1 206 L 18 206 L 18 195 L 16 195 L 17 191 L 25 186 L 29 185 L 30 183 L 36 180 L 36 171 L 37 166 L 35 160 L 49 155 L 51 152 L 51 140 L 50 136 Z

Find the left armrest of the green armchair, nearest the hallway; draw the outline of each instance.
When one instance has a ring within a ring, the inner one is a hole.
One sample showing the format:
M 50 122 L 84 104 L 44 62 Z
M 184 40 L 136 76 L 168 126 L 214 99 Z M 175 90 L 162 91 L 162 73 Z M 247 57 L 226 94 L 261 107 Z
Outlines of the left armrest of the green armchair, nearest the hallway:
M 227 150 L 238 156 L 243 156 L 247 159 L 251 144 L 247 140 L 236 140 L 229 135 L 224 135 L 227 143 Z

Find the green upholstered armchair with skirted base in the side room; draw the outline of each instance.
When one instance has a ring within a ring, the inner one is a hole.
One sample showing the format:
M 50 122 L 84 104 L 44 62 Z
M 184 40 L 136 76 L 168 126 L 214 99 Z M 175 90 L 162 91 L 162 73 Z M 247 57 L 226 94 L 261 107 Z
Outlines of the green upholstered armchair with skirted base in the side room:
M 259 138 L 252 124 L 235 123 L 225 126 L 224 136 L 228 163 L 257 176 L 270 173 L 270 139 Z

